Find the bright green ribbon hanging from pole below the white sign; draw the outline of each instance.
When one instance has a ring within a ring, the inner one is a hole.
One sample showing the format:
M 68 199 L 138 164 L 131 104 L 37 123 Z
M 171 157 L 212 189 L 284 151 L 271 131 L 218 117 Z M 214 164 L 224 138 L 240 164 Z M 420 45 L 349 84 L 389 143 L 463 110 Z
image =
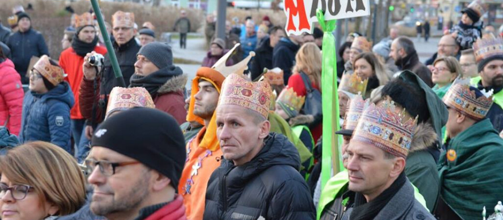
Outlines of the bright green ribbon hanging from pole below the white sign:
M 343 170 L 340 156 L 339 137 L 335 134 L 340 129 L 339 124 L 339 97 L 337 95 L 337 53 L 336 39 L 332 32 L 337 28 L 337 20 L 324 20 L 323 11 L 316 11 L 316 18 L 323 30 L 323 54 L 321 71 L 321 98 L 323 110 L 323 139 L 321 161 L 321 188 L 333 173 Z

